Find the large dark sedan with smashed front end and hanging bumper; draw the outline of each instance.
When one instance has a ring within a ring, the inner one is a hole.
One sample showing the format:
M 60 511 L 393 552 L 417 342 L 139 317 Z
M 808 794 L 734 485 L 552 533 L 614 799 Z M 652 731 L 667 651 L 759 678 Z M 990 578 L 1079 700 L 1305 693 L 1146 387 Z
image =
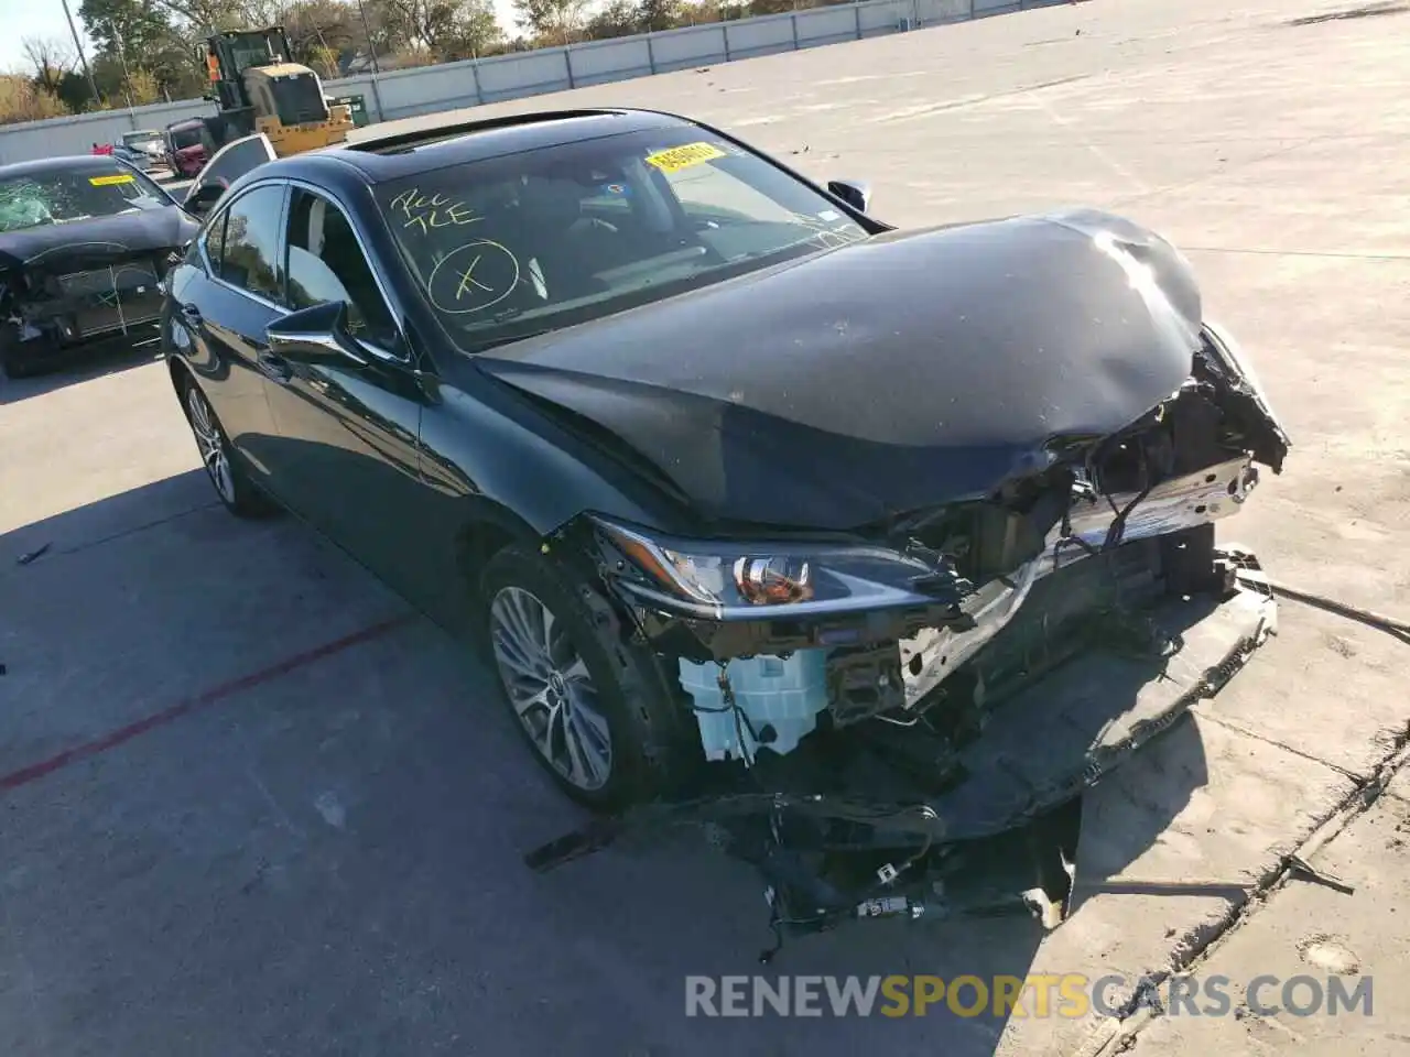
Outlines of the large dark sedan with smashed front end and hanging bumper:
M 206 180 L 164 340 L 210 478 L 467 629 L 561 786 L 629 809 L 539 865 L 705 822 L 825 927 L 1046 820 L 1008 889 L 1052 922 L 1081 789 L 1273 630 L 1214 523 L 1289 440 L 1127 220 L 895 231 L 632 110 L 254 137 Z

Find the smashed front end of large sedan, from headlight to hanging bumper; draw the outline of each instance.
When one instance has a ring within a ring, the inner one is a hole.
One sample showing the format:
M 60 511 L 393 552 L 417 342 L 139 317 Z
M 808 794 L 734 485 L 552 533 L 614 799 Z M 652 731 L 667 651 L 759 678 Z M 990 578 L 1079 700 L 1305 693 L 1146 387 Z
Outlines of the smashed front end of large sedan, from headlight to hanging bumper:
M 1056 926 L 1083 791 L 1276 633 L 1256 560 L 1215 547 L 1214 524 L 1289 444 L 1206 326 L 1189 379 L 1128 427 L 846 547 L 706 558 L 571 526 L 623 634 L 677 676 L 702 767 L 530 864 L 688 823 L 760 871 L 780 937 L 1005 906 Z

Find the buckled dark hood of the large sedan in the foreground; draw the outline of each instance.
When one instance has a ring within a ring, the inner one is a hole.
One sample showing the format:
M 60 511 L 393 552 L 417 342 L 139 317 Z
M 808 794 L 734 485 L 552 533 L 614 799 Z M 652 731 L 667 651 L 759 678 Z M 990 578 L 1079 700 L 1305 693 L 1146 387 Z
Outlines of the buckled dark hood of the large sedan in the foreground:
M 706 519 L 850 528 L 986 495 L 1170 396 L 1187 262 L 1120 217 L 888 233 L 477 357 Z

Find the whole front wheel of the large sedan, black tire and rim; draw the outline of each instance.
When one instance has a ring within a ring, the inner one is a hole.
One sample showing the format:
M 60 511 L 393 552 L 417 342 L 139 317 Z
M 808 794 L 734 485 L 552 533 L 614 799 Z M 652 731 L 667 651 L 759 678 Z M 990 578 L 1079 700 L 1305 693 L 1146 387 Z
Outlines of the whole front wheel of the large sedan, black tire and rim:
M 656 657 L 622 641 L 598 591 L 510 545 L 486 562 L 478 598 L 475 624 L 505 706 L 570 798 L 611 810 L 688 781 L 704 761 L 694 716 Z M 548 648 L 543 612 L 553 617 Z

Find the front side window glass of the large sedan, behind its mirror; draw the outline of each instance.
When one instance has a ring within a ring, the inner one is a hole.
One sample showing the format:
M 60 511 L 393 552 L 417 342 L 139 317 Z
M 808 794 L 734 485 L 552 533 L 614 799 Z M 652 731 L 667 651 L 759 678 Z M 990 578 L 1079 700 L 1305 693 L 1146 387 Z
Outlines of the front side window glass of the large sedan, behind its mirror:
M 327 199 L 293 189 L 289 202 L 289 296 L 292 309 L 331 300 L 348 306 L 360 338 L 392 345 L 396 324 L 347 216 Z

